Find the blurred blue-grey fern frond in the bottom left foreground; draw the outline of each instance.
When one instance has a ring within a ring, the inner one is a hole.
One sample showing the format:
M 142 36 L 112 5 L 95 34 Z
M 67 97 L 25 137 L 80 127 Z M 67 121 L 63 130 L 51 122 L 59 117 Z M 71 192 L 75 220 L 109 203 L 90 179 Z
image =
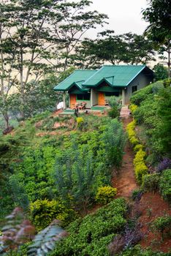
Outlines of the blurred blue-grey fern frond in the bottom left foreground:
M 45 256 L 54 249 L 56 241 L 67 236 L 66 231 L 59 227 L 58 224 L 59 221 L 57 219 L 53 220 L 48 227 L 35 236 L 33 244 L 28 246 L 28 256 Z

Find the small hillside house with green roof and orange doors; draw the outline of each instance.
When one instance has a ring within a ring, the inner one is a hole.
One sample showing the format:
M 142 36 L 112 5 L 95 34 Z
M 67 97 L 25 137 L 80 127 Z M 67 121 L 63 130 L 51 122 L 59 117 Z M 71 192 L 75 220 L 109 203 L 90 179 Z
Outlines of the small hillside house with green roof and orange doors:
M 64 108 L 66 93 L 69 94 L 69 108 L 76 102 L 86 102 L 86 108 L 104 106 L 113 95 L 125 105 L 129 104 L 134 91 L 152 81 L 153 71 L 145 65 L 104 65 L 98 70 L 75 70 L 54 90 L 63 93 Z

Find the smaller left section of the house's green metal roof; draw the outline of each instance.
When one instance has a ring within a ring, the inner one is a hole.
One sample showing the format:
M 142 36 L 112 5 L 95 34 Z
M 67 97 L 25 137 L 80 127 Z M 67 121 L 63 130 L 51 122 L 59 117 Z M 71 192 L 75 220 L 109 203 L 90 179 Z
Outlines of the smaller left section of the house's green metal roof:
M 94 75 L 96 73 L 96 70 L 75 70 L 71 75 L 69 75 L 68 78 L 66 78 L 64 81 L 58 84 L 58 86 L 54 87 L 55 91 L 68 91 L 72 86 L 77 86 L 81 91 L 89 91 L 88 88 L 85 86 L 82 86 L 82 83 L 84 83 L 88 78 L 91 77 L 91 75 Z

